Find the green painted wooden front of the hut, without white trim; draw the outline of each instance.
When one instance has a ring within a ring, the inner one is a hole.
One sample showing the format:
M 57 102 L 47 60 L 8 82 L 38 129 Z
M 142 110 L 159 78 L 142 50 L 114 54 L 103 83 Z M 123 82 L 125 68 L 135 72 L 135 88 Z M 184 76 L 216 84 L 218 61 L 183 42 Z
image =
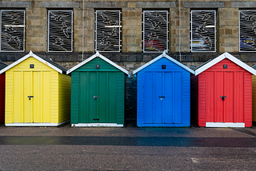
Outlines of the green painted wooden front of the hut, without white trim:
M 96 70 L 96 65 L 100 69 Z M 71 77 L 71 124 L 124 124 L 125 74 L 122 71 L 95 58 L 74 70 Z M 95 100 L 94 96 L 98 98 Z

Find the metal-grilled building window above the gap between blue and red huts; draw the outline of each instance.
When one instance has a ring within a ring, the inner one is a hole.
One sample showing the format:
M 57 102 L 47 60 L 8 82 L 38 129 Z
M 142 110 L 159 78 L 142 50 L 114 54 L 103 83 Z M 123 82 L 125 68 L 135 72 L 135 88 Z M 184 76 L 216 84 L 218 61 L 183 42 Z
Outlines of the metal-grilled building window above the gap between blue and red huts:
M 191 11 L 191 52 L 216 52 L 216 11 Z

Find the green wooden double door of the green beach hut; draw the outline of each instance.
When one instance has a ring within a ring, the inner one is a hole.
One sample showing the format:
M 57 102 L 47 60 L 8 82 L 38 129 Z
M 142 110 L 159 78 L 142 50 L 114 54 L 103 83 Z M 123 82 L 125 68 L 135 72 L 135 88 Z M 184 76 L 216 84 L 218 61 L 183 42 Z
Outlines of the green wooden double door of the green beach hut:
M 117 122 L 115 73 L 79 73 L 79 123 Z

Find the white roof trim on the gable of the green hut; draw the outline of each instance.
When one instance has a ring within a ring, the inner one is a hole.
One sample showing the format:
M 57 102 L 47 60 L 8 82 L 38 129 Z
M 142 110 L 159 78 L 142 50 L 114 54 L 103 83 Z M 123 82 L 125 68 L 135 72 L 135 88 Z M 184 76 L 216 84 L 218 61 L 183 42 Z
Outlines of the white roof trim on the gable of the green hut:
M 91 56 L 90 58 L 87 58 L 85 61 L 79 63 L 78 65 L 74 66 L 73 68 L 71 68 L 70 70 L 66 71 L 66 74 L 70 74 L 72 73 L 74 70 L 77 70 L 79 67 L 85 65 L 86 63 L 90 62 L 91 60 L 93 60 L 94 58 L 102 58 L 104 61 L 108 62 L 110 65 L 116 67 L 118 70 L 121 70 L 122 72 L 124 72 L 125 74 L 129 75 L 129 71 L 123 69 L 121 66 L 118 66 L 117 64 L 115 64 L 114 62 L 111 62 L 108 58 L 102 56 L 101 54 L 98 53 L 98 51 L 96 52 L 96 54 L 94 54 L 93 56 Z

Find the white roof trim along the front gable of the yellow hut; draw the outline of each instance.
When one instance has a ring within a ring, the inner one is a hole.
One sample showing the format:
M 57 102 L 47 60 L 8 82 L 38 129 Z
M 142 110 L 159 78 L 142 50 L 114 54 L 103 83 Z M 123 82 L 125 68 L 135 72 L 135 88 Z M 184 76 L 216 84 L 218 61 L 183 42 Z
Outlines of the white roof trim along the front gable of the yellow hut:
M 26 56 L 24 56 L 24 57 L 18 59 L 18 61 L 16 61 L 16 62 L 10 64 L 10 66 L 6 66 L 6 68 L 0 70 L 0 74 L 6 72 L 7 70 L 10 70 L 12 67 L 17 66 L 20 62 L 23 62 L 23 61 L 25 61 L 27 58 L 30 58 L 30 57 L 34 57 L 34 58 L 38 59 L 38 61 L 40 61 L 40 62 L 46 64 L 46 66 L 50 66 L 50 68 L 52 68 L 52 69 L 58 71 L 60 74 L 62 74 L 62 70 L 59 70 L 56 66 L 51 65 L 49 62 L 46 62 L 46 61 L 43 60 L 42 58 L 40 58 L 40 57 L 38 57 L 37 55 L 33 54 L 33 52 L 32 52 L 31 50 L 30 50 L 30 54 L 27 54 Z

